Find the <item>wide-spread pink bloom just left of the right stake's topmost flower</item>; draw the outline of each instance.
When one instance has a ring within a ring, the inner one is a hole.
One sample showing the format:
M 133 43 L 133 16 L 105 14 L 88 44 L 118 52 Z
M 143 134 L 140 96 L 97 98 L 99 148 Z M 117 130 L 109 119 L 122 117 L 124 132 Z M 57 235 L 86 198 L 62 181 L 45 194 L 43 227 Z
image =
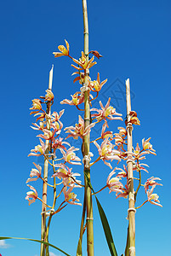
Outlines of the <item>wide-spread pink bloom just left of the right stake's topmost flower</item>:
M 100 102 L 101 109 L 98 109 L 98 108 L 90 109 L 90 111 L 97 111 L 98 112 L 98 113 L 93 113 L 92 117 L 96 118 L 98 122 L 100 122 L 101 120 L 104 119 L 105 122 L 106 122 L 106 125 L 107 125 L 107 119 L 109 119 L 109 120 L 114 120 L 114 119 L 123 120 L 121 117 L 113 117 L 114 114 L 122 116 L 122 113 L 117 113 L 115 108 L 109 106 L 110 101 L 111 101 L 111 98 L 109 98 L 105 107 L 103 107 L 103 104 Z M 108 125 L 107 125 L 107 127 L 108 127 Z

